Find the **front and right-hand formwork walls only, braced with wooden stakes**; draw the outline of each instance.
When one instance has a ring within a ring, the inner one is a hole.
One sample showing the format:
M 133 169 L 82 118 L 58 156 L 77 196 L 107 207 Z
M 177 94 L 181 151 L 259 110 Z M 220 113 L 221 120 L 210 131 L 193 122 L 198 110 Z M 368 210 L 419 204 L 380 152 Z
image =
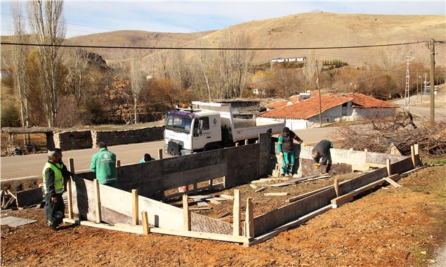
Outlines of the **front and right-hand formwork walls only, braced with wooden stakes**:
M 72 159 L 70 159 L 71 164 Z M 292 197 L 291 199 L 296 201 L 256 217 L 253 216 L 255 207 L 248 198 L 244 227 L 241 223 L 240 210 L 242 200 L 238 190 L 234 192 L 233 222 L 225 223 L 192 213 L 188 207 L 187 195 L 183 195 L 183 208 L 173 207 L 139 196 L 137 190 L 127 192 L 100 185 L 96 180 L 88 181 L 74 176 L 72 177 L 74 183 L 69 183 L 67 186 L 69 214 L 65 221 L 146 235 L 163 233 L 221 240 L 249 247 L 268 240 L 284 230 L 299 226 L 329 209 L 339 207 L 343 202 L 374 186 L 383 183 L 398 185 L 395 183 L 398 178 L 419 165 L 417 146 L 414 146 L 411 157 L 398 162 L 391 162 L 388 159 L 386 167 L 342 183 L 335 181 L 332 186 L 301 197 Z M 74 168 L 70 169 L 74 172 Z M 75 220 L 73 214 L 77 214 L 79 219 Z

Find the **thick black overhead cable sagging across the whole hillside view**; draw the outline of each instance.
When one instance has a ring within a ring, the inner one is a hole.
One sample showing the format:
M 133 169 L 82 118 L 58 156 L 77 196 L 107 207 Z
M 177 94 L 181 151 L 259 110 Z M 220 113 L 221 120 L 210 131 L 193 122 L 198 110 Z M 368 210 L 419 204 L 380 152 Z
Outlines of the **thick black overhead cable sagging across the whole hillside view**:
M 13 46 L 52 46 L 67 48 L 112 48 L 112 49 L 152 49 L 152 50 L 240 50 L 240 51 L 268 51 L 268 50 L 320 50 L 320 49 L 346 49 L 346 48 L 367 48 L 367 47 L 383 47 L 383 46 L 405 46 L 408 44 L 421 44 L 428 41 L 413 41 L 409 43 L 398 44 L 374 44 L 365 46 L 327 46 L 327 47 L 276 47 L 276 48 L 249 48 L 249 47 L 232 47 L 232 48 L 216 48 L 216 47 L 150 47 L 150 46 L 81 46 L 72 44 L 29 44 L 29 43 L 8 43 L 1 42 L 3 45 Z

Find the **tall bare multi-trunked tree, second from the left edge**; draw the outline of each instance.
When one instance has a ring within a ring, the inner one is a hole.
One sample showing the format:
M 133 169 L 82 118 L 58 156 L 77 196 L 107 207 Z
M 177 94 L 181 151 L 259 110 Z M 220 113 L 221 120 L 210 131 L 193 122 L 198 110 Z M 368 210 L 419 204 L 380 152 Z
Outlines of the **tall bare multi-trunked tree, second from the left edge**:
M 58 89 L 61 82 L 60 56 L 57 45 L 65 39 L 66 25 L 63 18 L 63 1 L 27 2 L 29 27 L 39 51 L 40 86 L 44 96 L 48 126 L 55 126 L 58 112 Z

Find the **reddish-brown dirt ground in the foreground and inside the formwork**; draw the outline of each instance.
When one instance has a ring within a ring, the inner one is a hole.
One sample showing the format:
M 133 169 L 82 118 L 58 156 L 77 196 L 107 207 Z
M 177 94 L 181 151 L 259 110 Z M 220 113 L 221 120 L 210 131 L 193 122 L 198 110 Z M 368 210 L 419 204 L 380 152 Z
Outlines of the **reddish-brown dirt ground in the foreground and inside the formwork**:
M 401 188 L 369 190 L 353 202 L 249 248 L 70 223 L 53 231 L 45 225 L 44 209 L 2 211 L 2 218 L 37 222 L 1 226 L 1 266 L 430 266 L 438 247 L 445 245 L 445 174 L 446 165 L 420 169 L 398 181 Z M 333 178 L 274 189 L 291 192 L 286 197 L 262 197 L 264 191 L 254 193 L 249 185 L 239 189 L 242 199 L 254 197 L 254 210 L 268 209 L 286 204 L 284 199 L 301 190 L 332 184 Z M 233 189 L 211 195 L 232 195 Z M 221 207 L 229 206 L 209 204 L 213 214 L 207 216 L 223 214 Z

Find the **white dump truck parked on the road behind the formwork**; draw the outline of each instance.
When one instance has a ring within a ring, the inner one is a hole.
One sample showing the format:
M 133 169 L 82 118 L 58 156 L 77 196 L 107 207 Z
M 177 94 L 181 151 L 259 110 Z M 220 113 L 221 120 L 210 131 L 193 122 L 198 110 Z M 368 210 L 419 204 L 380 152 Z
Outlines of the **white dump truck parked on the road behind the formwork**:
M 171 110 L 166 116 L 164 152 L 190 155 L 226 148 L 237 141 L 256 139 L 259 133 L 281 133 L 284 122 L 260 119 L 235 119 L 228 103 L 193 101 L 192 107 Z

